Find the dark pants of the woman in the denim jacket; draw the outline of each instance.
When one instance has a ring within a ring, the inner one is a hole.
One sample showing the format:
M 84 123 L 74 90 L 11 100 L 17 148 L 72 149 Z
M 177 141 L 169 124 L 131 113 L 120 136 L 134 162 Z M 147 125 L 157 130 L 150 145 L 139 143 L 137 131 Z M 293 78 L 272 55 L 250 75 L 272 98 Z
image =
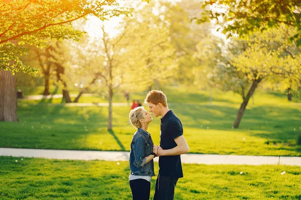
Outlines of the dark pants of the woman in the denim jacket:
M 133 200 L 148 200 L 150 193 L 150 182 L 144 179 L 134 179 L 129 181 Z

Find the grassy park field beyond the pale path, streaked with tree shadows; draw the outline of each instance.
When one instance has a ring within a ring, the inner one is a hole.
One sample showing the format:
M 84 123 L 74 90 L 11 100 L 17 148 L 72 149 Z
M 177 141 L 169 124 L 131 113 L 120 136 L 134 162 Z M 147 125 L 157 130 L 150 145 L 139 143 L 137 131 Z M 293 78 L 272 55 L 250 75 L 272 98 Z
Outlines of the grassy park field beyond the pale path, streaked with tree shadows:
M 164 91 L 169 107 L 183 122 L 190 152 L 301 155 L 301 146 L 296 145 L 301 129 L 301 106 L 287 102 L 285 95 L 257 92 L 254 104 L 250 100 L 240 127 L 232 129 L 241 101 L 238 95 L 215 90 L 210 106 L 208 91 L 185 87 L 170 87 Z M 140 92 L 131 97 L 143 100 L 144 95 L 145 92 Z M 123 98 L 120 94 L 119 97 Z M 49 106 L 45 102 L 47 100 L 19 102 L 20 122 L 0 122 L 0 146 L 129 150 L 135 131 L 128 124 L 129 106 L 113 107 L 113 130 L 107 131 L 107 107 Z M 148 131 L 158 144 L 160 118 L 150 123 Z

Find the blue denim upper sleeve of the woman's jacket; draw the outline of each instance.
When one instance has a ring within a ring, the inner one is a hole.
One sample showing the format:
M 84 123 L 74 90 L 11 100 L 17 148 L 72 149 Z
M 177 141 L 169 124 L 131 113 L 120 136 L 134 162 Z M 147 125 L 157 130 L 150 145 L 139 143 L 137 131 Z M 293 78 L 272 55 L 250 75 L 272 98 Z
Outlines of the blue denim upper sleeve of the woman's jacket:
M 145 141 L 141 136 L 139 136 L 133 144 L 133 152 L 135 158 L 134 164 L 136 166 L 142 167 L 146 162 L 146 157 L 144 156 L 144 147 Z

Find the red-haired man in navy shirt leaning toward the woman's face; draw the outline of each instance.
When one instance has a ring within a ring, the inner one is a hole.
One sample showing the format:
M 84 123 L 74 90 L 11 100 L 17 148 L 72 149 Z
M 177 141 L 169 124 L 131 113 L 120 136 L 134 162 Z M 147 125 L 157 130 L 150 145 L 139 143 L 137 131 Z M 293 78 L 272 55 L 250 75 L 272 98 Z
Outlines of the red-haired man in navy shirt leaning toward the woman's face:
M 181 154 L 188 153 L 189 146 L 183 135 L 183 125 L 174 112 L 168 108 L 167 97 L 163 91 L 152 90 L 144 102 L 149 111 L 161 118 L 159 173 L 156 180 L 154 200 L 174 199 L 175 186 L 183 177 Z

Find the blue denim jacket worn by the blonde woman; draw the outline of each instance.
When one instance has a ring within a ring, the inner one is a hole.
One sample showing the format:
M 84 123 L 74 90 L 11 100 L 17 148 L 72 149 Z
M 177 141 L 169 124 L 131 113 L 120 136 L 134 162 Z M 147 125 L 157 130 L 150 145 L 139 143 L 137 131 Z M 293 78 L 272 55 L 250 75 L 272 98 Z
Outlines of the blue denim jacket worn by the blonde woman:
M 154 159 L 146 162 L 146 157 L 153 152 L 154 142 L 145 130 L 138 128 L 130 143 L 129 167 L 132 175 L 154 176 Z

